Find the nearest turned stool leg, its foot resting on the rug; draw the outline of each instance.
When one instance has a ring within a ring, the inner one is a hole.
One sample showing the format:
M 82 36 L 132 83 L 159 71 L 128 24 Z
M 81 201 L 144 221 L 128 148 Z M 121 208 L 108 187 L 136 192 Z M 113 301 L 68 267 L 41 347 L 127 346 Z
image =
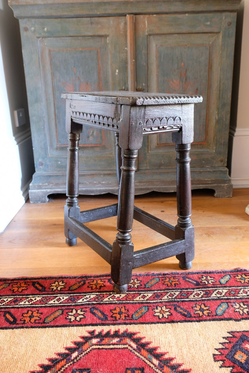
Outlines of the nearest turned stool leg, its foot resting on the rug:
M 114 291 L 122 293 L 127 290 L 127 284 L 132 277 L 133 244 L 130 232 L 132 231 L 135 171 L 138 150 L 124 150 L 122 152 L 122 173 L 119 190 L 119 206 L 117 212 L 116 241 L 113 242 L 111 254 L 111 278 L 114 282 Z

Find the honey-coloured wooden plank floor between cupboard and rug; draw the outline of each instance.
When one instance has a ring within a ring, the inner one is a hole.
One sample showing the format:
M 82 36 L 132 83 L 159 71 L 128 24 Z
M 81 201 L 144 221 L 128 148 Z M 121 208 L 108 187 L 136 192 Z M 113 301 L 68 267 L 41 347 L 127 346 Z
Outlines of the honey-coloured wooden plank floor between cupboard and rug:
M 0 277 L 110 273 L 110 266 L 81 240 L 68 247 L 63 232 L 64 196 L 47 204 L 25 203 L 0 235 Z M 81 210 L 116 203 L 113 195 L 81 196 Z M 137 196 L 139 208 L 176 225 L 176 194 Z M 192 221 L 196 254 L 193 270 L 249 268 L 249 189 L 234 189 L 232 198 L 215 198 L 212 191 L 193 191 Z M 112 243 L 116 217 L 87 223 Z M 165 242 L 165 237 L 134 221 L 135 250 Z M 138 268 L 135 272 L 179 270 L 175 257 Z

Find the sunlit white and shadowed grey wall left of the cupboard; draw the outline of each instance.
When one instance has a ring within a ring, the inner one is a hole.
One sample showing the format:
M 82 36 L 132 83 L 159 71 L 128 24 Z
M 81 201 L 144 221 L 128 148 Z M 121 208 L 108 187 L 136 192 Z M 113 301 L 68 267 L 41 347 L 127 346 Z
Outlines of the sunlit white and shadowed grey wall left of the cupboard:
M 16 128 L 14 110 L 24 108 L 26 124 Z M 34 172 L 19 22 L 0 0 L 0 232 L 28 198 Z

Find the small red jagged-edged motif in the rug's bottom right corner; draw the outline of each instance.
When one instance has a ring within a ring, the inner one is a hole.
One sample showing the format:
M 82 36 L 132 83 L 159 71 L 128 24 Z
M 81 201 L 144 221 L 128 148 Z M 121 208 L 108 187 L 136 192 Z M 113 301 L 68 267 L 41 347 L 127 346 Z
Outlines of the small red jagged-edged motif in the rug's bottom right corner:
M 223 348 L 217 348 L 219 354 L 214 354 L 214 361 L 222 361 L 222 367 L 232 368 L 231 373 L 249 372 L 249 330 L 229 332 L 231 336 L 221 343 Z

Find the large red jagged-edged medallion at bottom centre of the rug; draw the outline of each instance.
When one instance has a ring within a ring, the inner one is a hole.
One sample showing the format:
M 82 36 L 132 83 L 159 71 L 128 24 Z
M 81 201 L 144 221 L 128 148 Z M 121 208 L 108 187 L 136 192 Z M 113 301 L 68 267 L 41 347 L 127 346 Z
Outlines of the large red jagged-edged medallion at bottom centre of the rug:
M 163 358 L 163 354 L 158 354 L 148 343 L 136 338 L 135 333 L 127 331 L 89 332 L 88 336 L 82 336 L 81 341 L 74 342 L 74 346 L 66 350 L 48 359 L 50 364 L 40 365 L 39 372 L 94 373 L 103 372 L 103 367 L 104 372 L 117 372 L 117 362 L 119 372 L 123 373 L 191 371 L 180 369 L 181 364 L 174 363 L 173 358 Z

